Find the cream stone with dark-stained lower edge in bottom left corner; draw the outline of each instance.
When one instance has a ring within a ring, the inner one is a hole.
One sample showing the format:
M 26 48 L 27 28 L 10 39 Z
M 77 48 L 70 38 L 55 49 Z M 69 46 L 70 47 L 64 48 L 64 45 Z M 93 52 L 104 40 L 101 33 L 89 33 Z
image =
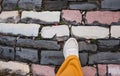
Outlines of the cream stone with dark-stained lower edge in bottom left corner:
M 17 76 L 26 76 L 29 73 L 29 66 L 26 63 L 0 61 L 0 70 L 6 70 L 9 74 L 14 73 Z

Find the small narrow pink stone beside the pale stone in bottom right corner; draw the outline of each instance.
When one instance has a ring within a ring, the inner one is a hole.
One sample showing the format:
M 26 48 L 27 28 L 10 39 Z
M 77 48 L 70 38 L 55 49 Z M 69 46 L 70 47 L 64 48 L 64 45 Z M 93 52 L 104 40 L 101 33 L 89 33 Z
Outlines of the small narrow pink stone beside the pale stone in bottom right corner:
M 99 76 L 107 76 L 107 65 L 98 64 L 98 74 Z

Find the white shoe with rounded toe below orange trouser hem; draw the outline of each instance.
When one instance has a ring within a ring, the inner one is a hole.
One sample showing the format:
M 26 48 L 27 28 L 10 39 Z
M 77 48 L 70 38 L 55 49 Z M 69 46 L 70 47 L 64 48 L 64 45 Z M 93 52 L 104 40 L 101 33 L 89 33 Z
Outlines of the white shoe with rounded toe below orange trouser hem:
M 75 38 L 68 39 L 63 48 L 63 54 L 65 59 L 70 55 L 76 55 L 77 57 L 79 57 L 78 48 L 78 43 Z

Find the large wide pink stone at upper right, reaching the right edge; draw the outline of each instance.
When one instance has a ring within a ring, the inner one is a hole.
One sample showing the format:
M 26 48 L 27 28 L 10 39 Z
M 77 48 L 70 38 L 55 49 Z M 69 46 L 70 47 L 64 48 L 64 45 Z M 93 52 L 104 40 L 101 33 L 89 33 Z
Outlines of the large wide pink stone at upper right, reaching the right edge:
M 110 11 L 94 11 L 87 12 L 86 19 L 88 24 L 98 21 L 102 24 L 111 24 L 112 22 L 118 22 L 120 19 L 120 12 L 110 12 Z

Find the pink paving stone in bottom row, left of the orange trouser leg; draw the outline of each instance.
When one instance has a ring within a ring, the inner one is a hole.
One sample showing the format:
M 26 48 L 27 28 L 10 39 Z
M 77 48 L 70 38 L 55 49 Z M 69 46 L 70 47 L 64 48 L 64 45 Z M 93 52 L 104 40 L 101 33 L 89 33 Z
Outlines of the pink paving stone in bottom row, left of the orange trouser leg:
M 55 76 L 55 68 L 43 65 L 32 65 L 33 76 Z

